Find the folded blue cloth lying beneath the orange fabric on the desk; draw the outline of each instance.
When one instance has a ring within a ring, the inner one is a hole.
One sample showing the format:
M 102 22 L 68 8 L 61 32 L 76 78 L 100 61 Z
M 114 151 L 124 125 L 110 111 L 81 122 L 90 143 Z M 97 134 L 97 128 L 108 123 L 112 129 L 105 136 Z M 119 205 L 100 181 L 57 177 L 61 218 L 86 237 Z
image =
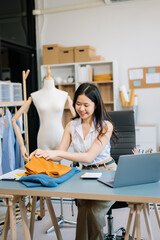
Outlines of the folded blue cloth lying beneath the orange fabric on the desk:
M 46 174 L 36 174 L 23 176 L 19 179 L 21 183 L 23 183 L 26 187 L 57 187 L 59 183 L 63 183 L 71 178 L 75 173 L 80 172 L 77 168 L 73 167 L 71 170 L 64 174 L 63 176 L 54 178 L 50 177 Z

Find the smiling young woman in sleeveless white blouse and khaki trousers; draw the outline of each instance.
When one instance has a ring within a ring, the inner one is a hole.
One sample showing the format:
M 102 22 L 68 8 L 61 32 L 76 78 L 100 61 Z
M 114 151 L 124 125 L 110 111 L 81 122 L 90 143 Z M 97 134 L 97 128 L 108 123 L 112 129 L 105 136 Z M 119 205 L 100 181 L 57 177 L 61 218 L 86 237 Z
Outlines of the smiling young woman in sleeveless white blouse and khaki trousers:
M 116 170 L 110 156 L 110 139 L 112 134 L 116 136 L 116 131 L 99 89 L 91 83 L 81 84 L 75 92 L 73 106 L 76 117 L 67 124 L 58 149 L 37 149 L 30 158 L 33 155 L 53 161 L 65 158 L 80 162 L 83 169 Z M 74 152 L 67 152 L 71 143 Z M 105 215 L 112 204 L 111 201 L 77 200 L 76 240 L 103 240 Z

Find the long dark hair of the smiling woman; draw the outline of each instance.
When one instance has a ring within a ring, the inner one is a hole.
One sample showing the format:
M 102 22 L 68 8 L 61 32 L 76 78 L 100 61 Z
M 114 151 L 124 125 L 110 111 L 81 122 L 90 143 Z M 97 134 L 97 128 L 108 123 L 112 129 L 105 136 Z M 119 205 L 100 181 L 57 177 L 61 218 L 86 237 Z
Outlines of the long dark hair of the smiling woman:
M 112 120 L 110 118 L 110 116 L 108 115 L 107 111 L 105 110 L 105 106 L 100 94 L 100 91 L 98 89 L 98 87 L 92 83 L 82 83 L 76 90 L 75 94 L 74 94 L 74 99 L 73 99 L 73 107 L 75 109 L 76 112 L 76 102 L 77 102 L 77 98 L 79 95 L 85 95 L 86 97 L 88 97 L 92 102 L 95 103 L 95 111 L 94 111 L 94 117 L 95 117 L 95 128 L 96 130 L 99 132 L 99 136 L 103 135 L 102 130 L 103 130 L 103 121 L 104 120 L 108 120 L 112 123 Z M 77 114 L 76 112 L 76 116 L 75 118 L 79 118 L 80 116 Z M 113 125 L 113 123 L 112 123 Z M 113 134 L 114 139 L 117 138 L 117 131 L 114 128 L 113 125 Z

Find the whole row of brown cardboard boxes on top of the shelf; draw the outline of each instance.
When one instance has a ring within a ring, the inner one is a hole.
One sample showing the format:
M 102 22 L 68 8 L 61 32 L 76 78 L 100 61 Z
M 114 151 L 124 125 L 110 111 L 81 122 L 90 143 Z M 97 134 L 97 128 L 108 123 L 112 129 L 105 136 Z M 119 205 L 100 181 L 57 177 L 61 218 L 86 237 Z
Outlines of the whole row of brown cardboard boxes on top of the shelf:
M 64 47 L 59 44 L 43 45 L 43 65 L 101 60 L 105 60 L 105 58 L 96 56 L 96 49 L 92 46 Z

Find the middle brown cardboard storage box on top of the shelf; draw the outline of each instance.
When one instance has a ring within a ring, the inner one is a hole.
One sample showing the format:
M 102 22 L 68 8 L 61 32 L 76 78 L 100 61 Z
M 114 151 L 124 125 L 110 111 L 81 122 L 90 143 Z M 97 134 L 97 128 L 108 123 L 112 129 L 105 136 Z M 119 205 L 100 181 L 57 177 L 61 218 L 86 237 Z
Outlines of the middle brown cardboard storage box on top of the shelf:
M 73 63 L 74 62 L 74 48 L 63 47 L 60 49 L 60 63 Z

